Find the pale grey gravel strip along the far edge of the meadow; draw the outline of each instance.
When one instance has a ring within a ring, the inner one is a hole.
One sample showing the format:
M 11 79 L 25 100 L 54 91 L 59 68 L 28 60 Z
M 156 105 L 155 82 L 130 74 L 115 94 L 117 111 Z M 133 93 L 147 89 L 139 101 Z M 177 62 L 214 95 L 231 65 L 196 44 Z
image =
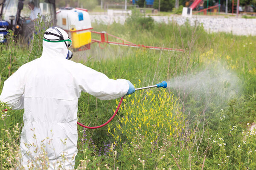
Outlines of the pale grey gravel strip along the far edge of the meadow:
M 108 16 L 108 15 L 90 15 L 92 22 L 102 22 L 105 24 L 111 24 L 113 22 L 125 23 L 126 16 Z M 174 20 L 179 25 L 182 25 L 189 20 L 190 25 L 194 25 L 195 22 L 201 23 L 206 31 L 210 32 L 227 32 L 236 35 L 256 35 L 256 19 L 244 19 L 244 18 L 225 18 L 225 17 L 212 17 L 212 16 L 193 16 L 193 17 L 181 17 L 181 16 L 152 16 L 156 22 L 169 23 Z

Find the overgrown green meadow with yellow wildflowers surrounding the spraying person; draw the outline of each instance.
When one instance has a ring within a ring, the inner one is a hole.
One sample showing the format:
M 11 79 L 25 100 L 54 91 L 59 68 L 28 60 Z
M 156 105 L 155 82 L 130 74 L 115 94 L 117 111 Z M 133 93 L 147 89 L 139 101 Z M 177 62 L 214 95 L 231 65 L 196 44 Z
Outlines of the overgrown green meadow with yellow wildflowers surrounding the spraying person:
M 209 170 L 255 169 L 256 135 L 246 133 L 247 123 L 256 120 L 255 37 L 208 34 L 202 26 L 156 24 L 139 15 L 131 17 L 125 25 L 92 23 L 92 26 L 95 31 L 107 31 L 136 44 L 185 50 L 182 53 L 115 45 L 100 49 L 93 44 L 88 51 L 74 53 L 73 60 L 109 78 L 128 79 L 138 88 L 183 75 L 198 75 L 207 69 L 213 70 L 209 77 L 215 77 L 215 72 L 221 68 L 238 77 L 237 85 L 241 86 L 241 91 L 221 104 L 218 96 L 204 96 L 208 91 L 196 94 L 182 89 L 156 88 L 135 92 L 126 97 L 122 110 L 108 126 L 86 132 L 80 132 L 83 129 L 78 127 L 76 166 L 82 159 L 89 169 L 105 169 L 105 165 L 123 170 L 179 169 L 178 166 L 192 170 L 202 167 Z M 93 35 L 93 38 L 99 37 Z M 14 41 L 10 42 L 0 46 L 1 87 L 20 65 L 41 55 L 40 34 L 35 38 L 29 59 L 29 50 L 24 51 Z M 233 86 L 227 83 L 225 88 L 229 87 Z M 117 102 L 100 101 L 82 93 L 78 106 L 79 122 L 85 125 L 106 122 Z M 0 120 L 0 129 L 12 131 L 16 123 L 22 126 L 23 111 L 9 113 L 10 116 Z M 81 138 L 87 141 L 91 138 L 93 142 L 82 144 Z M 0 140 L 3 146 L 10 143 L 3 132 Z M 15 140 L 18 144 L 19 139 Z M 111 148 L 111 143 L 116 144 L 115 148 Z M 0 156 L 2 169 L 8 169 L 6 152 L 11 151 L 2 147 L 0 151 L 4 153 Z

